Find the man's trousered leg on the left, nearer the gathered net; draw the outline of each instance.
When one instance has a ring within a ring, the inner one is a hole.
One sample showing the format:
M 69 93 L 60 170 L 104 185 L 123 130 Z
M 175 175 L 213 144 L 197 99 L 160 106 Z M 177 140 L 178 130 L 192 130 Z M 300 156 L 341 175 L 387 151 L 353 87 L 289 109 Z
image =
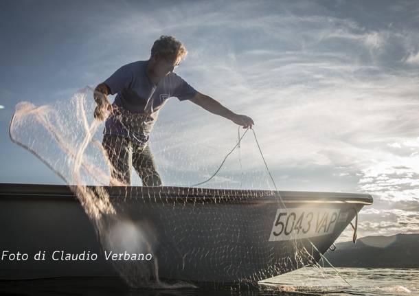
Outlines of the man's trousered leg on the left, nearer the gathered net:
M 109 185 L 131 185 L 130 141 L 120 136 L 104 135 L 102 146 L 106 150 L 112 166 Z

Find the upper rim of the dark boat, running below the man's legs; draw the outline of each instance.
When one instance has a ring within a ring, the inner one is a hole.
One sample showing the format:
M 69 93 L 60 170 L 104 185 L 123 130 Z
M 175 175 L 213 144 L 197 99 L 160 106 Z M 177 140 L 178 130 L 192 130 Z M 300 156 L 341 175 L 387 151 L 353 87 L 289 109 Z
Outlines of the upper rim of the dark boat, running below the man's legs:
M 94 188 L 95 186 L 87 186 Z M 242 202 L 242 203 L 358 203 L 371 205 L 373 198 L 370 194 L 342 193 L 342 192 L 304 192 L 304 191 L 275 191 L 275 190 L 239 190 L 214 189 L 201 187 L 103 187 L 113 201 L 144 200 L 170 201 L 179 203 L 201 202 Z M 176 195 L 176 196 L 173 196 Z M 68 185 L 0 183 L 0 198 L 6 197 L 43 197 L 43 198 L 73 198 L 76 195 Z M 130 196 L 129 198 L 127 196 Z M 0 199 L 0 200 L 1 200 Z

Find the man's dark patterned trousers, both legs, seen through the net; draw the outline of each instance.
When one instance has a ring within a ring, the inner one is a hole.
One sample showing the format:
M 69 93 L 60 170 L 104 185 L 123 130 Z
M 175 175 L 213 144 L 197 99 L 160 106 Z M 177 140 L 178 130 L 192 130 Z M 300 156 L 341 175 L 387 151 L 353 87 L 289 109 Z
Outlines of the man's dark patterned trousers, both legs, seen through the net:
M 137 171 L 144 186 L 161 186 L 150 146 L 139 146 L 126 137 L 104 135 L 102 146 L 111 161 L 111 184 L 117 180 L 131 185 L 131 165 Z

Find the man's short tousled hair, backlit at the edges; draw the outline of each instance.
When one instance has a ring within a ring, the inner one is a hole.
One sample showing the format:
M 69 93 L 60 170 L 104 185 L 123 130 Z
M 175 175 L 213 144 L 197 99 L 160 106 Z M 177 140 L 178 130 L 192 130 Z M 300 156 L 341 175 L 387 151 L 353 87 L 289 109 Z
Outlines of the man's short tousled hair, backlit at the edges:
M 185 58 L 188 51 L 186 50 L 185 45 L 177 40 L 177 38 L 162 35 L 151 47 L 151 56 L 154 56 L 157 53 L 163 56 L 163 58 L 175 60 L 179 63 Z

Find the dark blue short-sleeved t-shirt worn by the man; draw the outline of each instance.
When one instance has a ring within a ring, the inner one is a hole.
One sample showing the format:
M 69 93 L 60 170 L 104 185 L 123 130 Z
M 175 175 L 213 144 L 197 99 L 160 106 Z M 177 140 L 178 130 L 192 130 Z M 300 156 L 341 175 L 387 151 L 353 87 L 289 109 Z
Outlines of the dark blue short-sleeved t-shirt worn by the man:
M 104 81 L 111 95 L 117 94 L 114 111 L 121 111 L 106 119 L 104 134 L 130 137 L 137 144 L 144 145 L 168 98 L 183 101 L 196 95 L 196 90 L 173 72 L 154 84 L 146 75 L 147 64 L 148 60 L 131 62 Z

